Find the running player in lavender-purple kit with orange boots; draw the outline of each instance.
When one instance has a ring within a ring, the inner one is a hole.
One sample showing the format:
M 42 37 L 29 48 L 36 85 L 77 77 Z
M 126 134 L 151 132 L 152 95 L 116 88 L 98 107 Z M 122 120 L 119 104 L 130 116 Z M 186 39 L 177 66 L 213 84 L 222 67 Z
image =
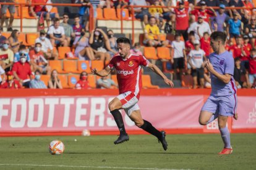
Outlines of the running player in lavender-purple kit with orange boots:
M 220 155 L 231 154 L 233 151 L 226 123 L 229 116 L 234 116 L 237 119 L 236 85 L 233 78 L 234 59 L 226 51 L 224 47 L 225 41 L 225 33 L 215 31 L 211 34 L 210 43 L 214 52 L 209 55 L 205 63 L 205 67 L 207 67 L 211 75 L 211 94 L 203 105 L 199 116 L 199 123 L 202 125 L 211 123 L 211 121 L 218 118 L 218 126 L 224 143 L 224 148 L 219 153 Z

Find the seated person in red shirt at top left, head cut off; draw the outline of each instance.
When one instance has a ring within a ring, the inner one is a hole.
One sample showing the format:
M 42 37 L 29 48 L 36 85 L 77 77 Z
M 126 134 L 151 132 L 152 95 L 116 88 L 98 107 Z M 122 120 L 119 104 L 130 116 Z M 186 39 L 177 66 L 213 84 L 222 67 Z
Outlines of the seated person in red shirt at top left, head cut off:
M 48 0 L 28 0 L 28 2 L 32 2 L 32 3 L 46 3 Z M 40 17 L 41 13 L 43 13 L 43 17 L 45 17 L 46 20 L 46 24 L 49 28 L 49 23 L 50 23 L 50 18 L 59 18 L 59 14 L 58 13 L 54 13 L 54 12 L 48 12 L 48 10 L 46 9 L 46 6 L 30 6 L 29 7 L 29 13 L 31 16 L 33 17 Z

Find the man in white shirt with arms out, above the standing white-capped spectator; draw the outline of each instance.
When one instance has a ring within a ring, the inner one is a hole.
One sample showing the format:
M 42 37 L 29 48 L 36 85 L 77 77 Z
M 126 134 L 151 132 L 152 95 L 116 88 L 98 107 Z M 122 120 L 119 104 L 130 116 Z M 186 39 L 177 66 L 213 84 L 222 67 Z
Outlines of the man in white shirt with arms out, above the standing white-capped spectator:
M 210 25 L 209 25 L 209 23 L 207 23 L 203 20 L 202 15 L 198 15 L 198 21 L 192 23 L 189 26 L 189 29 L 187 30 L 187 32 L 189 33 L 190 31 L 195 32 L 195 39 L 198 39 L 198 40 L 200 40 L 200 37 L 202 37 L 203 33 L 205 33 L 205 32 L 208 32 L 209 34 L 211 34 Z

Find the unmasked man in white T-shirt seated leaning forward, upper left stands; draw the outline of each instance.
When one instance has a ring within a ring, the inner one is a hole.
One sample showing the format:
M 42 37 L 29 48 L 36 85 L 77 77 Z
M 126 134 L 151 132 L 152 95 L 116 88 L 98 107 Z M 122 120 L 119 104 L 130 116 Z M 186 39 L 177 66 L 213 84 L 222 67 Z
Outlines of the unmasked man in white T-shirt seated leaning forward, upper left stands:
M 59 18 L 54 18 L 53 25 L 49 27 L 48 34 L 53 46 L 68 46 L 63 26 L 59 26 Z

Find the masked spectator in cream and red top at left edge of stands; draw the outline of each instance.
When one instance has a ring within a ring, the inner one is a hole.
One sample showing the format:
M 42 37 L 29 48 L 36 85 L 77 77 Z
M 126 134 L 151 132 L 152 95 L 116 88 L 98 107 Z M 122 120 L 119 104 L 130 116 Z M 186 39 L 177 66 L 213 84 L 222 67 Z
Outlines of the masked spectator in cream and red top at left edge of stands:
M 8 39 L 4 41 L 0 49 L 0 65 L 4 70 L 10 70 L 14 62 L 14 52 L 9 49 L 10 42 Z

